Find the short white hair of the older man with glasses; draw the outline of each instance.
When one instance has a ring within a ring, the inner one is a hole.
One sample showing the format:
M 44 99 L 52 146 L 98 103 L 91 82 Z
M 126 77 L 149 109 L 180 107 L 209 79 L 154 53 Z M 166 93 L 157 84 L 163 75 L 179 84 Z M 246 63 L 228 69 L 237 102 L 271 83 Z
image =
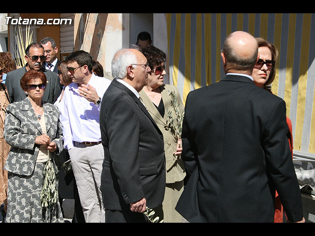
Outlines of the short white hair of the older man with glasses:
M 127 67 L 138 63 L 136 55 L 129 49 L 119 50 L 112 60 L 112 76 L 116 79 L 124 79 L 127 75 Z

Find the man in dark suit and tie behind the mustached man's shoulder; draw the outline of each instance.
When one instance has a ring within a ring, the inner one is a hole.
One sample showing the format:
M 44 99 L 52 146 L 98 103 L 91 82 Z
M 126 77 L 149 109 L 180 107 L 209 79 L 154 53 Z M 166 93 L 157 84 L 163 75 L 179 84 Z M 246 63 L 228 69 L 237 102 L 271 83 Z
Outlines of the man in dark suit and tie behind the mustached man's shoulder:
M 43 67 L 46 68 L 46 70 L 53 71 L 55 73 L 58 72 L 57 64 L 60 62 L 60 60 L 57 58 L 58 53 L 58 47 L 56 45 L 56 42 L 53 38 L 46 37 L 43 38 L 40 41 L 40 44 L 44 47 L 44 52 L 46 56 L 45 63 L 43 64 Z

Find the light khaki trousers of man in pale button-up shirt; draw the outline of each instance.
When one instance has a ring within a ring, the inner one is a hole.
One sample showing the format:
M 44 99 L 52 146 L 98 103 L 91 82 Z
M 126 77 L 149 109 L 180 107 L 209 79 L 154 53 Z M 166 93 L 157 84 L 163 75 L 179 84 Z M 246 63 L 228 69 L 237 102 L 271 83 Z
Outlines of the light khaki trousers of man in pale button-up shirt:
M 104 160 L 102 144 L 89 146 L 75 143 L 69 155 L 85 221 L 104 223 L 105 209 L 99 188 Z

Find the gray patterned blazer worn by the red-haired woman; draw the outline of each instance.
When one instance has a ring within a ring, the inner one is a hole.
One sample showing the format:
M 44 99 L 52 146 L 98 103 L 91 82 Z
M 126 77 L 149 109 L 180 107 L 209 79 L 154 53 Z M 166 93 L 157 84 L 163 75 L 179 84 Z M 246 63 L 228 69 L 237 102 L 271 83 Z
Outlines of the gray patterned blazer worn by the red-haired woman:
M 56 158 L 63 150 L 62 126 L 59 120 L 59 109 L 50 103 L 43 104 L 47 135 L 51 142 L 57 144 L 53 162 L 55 171 L 58 172 Z M 39 145 L 35 138 L 42 135 L 41 127 L 32 109 L 28 97 L 24 100 L 11 103 L 6 109 L 4 123 L 4 139 L 11 145 L 10 152 L 5 162 L 4 169 L 18 174 L 30 176 L 34 170 Z

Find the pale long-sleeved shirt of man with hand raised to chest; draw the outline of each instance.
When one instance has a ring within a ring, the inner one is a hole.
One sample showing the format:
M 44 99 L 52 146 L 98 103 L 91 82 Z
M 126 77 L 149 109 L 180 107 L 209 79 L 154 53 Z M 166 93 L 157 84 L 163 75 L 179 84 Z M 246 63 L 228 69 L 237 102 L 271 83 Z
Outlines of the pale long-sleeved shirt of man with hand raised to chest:
M 88 85 L 96 89 L 97 95 L 102 98 L 110 85 L 109 79 L 92 74 Z M 101 141 L 99 127 L 100 104 L 95 105 L 79 95 L 79 85 L 72 83 L 65 87 L 60 104 L 61 123 L 63 126 L 64 148 L 71 149 L 74 142 Z M 102 101 L 103 102 L 103 101 Z

